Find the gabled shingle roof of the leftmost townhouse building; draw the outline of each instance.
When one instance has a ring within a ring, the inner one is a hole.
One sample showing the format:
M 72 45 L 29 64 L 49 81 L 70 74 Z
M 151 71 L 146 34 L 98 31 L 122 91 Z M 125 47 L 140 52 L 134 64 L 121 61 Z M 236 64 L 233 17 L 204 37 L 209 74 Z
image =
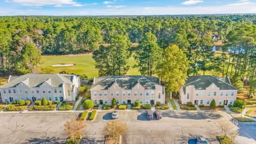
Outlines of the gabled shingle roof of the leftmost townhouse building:
M 21 82 L 29 87 L 39 87 L 44 82 L 51 84 L 53 87 L 62 87 L 63 83 L 73 84 L 74 76 L 75 75 L 67 74 L 26 74 L 10 76 L 9 82 L 4 84 L 1 88 L 16 87 Z

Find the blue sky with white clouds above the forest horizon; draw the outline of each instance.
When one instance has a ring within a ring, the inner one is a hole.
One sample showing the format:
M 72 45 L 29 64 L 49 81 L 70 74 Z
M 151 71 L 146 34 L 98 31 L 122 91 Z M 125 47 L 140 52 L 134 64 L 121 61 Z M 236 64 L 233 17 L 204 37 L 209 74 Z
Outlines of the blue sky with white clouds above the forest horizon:
M 256 13 L 256 0 L 0 0 L 0 15 Z

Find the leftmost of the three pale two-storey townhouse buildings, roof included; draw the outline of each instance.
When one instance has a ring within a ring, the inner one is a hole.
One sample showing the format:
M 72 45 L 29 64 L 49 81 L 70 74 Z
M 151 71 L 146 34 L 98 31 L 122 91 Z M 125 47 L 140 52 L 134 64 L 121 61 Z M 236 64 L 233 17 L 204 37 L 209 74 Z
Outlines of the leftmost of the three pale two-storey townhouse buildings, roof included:
M 73 101 L 78 95 L 80 78 L 67 74 L 26 74 L 9 76 L 0 87 L 2 101 L 42 100 Z

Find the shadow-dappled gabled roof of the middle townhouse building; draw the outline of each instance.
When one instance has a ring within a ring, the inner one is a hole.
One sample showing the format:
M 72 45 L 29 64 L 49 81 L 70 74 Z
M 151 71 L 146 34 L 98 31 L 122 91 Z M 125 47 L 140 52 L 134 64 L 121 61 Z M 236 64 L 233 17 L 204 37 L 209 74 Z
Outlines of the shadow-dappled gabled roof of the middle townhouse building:
M 131 90 L 138 83 L 145 90 L 155 90 L 155 85 L 160 85 L 159 78 L 153 76 L 105 76 L 95 77 L 91 90 L 108 90 L 116 83 L 123 90 Z

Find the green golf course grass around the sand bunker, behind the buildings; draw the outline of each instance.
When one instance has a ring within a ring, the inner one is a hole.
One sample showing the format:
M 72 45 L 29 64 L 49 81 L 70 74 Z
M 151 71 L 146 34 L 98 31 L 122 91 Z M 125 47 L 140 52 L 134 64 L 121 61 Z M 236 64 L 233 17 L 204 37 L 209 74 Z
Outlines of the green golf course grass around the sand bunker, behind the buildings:
M 130 69 L 127 75 L 140 75 L 138 68 L 132 68 L 135 63 L 136 61 L 131 57 L 128 61 Z M 57 64 L 75 64 L 75 66 L 52 67 L 52 65 Z M 41 71 L 41 73 L 59 73 L 60 71 L 66 71 L 67 73 L 77 75 L 85 74 L 89 78 L 98 76 L 98 70 L 95 69 L 95 61 L 92 59 L 92 55 L 43 55 L 38 70 Z

